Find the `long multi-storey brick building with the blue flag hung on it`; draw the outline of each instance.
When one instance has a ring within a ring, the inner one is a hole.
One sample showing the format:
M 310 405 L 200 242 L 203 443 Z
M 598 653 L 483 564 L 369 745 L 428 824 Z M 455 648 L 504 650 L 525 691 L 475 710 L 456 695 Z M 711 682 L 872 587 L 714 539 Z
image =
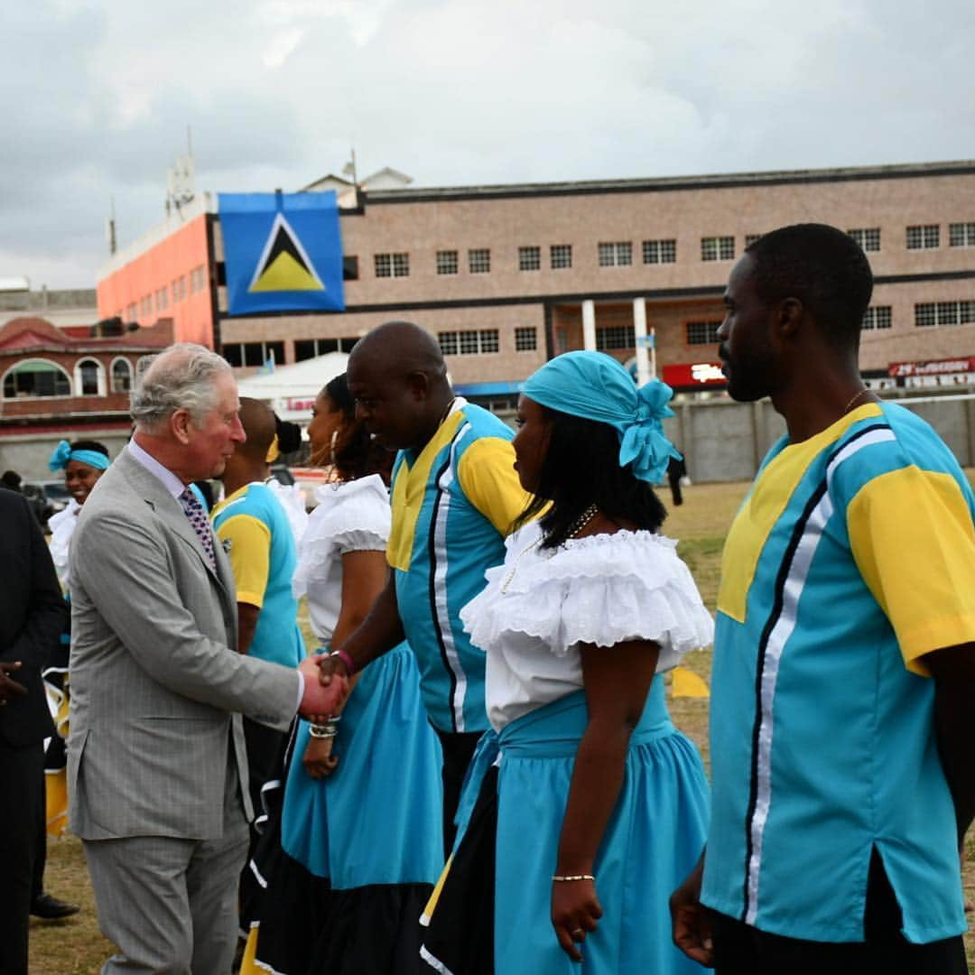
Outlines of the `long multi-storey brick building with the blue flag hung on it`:
M 326 177 L 306 191 L 319 188 L 342 189 Z M 229 315 L 219 215 L 208 196 L 190 215 L 195 243 L 180 258 L 180 274 L 197 268 L 199 288 L 191 283 L 177 296 L 172 263 L 146 273 L 175 242 L 154 232 L 102 269 L 98 312 L 134 315 L 141 325 L 172 314 L 177 337 L 207 335 L 242 374 L 271 357 L 293 363 L 348 351 L 375 325 L 409 318 L 439 337 L 461 391 L 496 405 L 510 404 L 518 382 L 552 355 L 595 347 L 627 361 L 652 340 L 658 374 L 694 389 L 722 384 L 709 366 L 733 260 L 763 231 L 815 220 L 848 230 L 874 268 L 865 375 L 892 382 L 895 364 L 975 357 L 975 162 L 367 186 L 339 201 L 342 312 Z M 192 328 L 181 325 L 176 306 L 197 294 L 205 297 Z M 638 338 L 644 329 L 652 339 Z

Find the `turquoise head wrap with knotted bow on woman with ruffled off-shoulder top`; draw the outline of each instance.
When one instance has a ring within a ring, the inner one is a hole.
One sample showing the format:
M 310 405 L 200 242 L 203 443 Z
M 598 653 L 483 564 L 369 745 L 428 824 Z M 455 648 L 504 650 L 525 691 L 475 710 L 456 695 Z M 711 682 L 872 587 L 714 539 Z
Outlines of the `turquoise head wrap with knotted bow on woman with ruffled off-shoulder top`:
M 572 416 L 608 423 L 619 434 L 619 465 L 651 484 L 681 452 L 664 435 L 661 420 L 673 416 L 674 391 L 659 379 L 637 388 L 630 373 L 603 352 L 566 352 L 530 375 L 522 387 L 529 400 Z

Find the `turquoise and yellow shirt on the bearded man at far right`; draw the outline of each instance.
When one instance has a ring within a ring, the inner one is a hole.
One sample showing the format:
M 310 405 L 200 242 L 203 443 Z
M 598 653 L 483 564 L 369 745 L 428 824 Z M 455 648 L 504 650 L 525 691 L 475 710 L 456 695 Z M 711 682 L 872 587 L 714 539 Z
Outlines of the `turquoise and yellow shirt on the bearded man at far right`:
M 702 901 L 862 941 L 876 847 L 908 940 L 965 929 L 924 655 L 975 641 L 975 497 L 908 409 L 771 449 L 722 557 Z

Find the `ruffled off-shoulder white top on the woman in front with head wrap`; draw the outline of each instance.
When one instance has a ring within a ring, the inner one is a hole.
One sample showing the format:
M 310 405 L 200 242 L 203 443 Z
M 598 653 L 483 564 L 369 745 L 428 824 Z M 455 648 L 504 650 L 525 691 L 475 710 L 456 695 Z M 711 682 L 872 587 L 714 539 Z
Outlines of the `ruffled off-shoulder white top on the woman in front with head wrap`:
M 580 643 L 660 644 L 657 671 L 714 638 L 677 542 L 651 531 L 570 538 L 541 548 L 531 523 L 512 534 L 503 565 L 460 611 L 471 642 L 487 653 L 487 718 L 500 731 L 582 687 Z

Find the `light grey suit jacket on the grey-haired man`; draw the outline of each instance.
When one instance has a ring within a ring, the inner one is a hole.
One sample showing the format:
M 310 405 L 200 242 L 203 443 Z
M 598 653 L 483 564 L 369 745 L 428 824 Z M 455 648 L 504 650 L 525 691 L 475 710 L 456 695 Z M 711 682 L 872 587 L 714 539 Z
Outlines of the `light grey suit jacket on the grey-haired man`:
M 236 652 L 219 545 L 216 562 L 176 498 L 124 450 L 71 539 L 68 789 L 82 839 L 219 838 L 228 768 L 253 815 L 240 713 L 287 728 L 298 679 Z

